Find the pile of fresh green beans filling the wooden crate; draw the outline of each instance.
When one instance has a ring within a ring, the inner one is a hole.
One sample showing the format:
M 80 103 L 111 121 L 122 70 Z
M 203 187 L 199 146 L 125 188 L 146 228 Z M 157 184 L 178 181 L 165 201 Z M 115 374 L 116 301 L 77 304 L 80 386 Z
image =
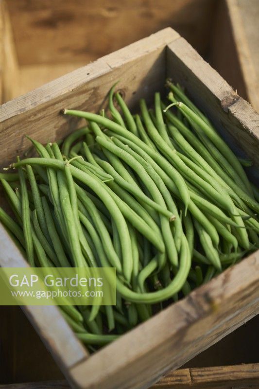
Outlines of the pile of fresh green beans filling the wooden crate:
M 251 162 L 179 85 L 137 115 L 115 87 L 107 112 L 64 109 L 86 126 L 31 139 L 38 156 L 0 174 L 15 215 L 0 208 L 0 221 L 30 265 L 116 268 L 116 306 L 60 307 L 92 351 L 259 248 Z

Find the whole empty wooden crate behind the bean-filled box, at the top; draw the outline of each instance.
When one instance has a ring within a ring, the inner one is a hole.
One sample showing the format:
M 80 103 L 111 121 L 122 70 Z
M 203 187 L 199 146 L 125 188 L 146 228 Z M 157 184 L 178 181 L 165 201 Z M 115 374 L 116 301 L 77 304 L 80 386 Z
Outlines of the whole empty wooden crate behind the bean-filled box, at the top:
M 173 27 L 259 111 L 258 18 L 257 0 L 1 0 L 0 103 Z

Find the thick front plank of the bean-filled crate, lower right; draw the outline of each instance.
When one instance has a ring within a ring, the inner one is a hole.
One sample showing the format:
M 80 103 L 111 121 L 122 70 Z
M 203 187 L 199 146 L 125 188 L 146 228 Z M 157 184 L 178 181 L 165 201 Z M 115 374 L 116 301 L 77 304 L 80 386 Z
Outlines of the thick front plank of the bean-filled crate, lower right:
M 258 271 L 255 253 L 72 368 L 76 386 L 148 388 L 259 313 Z

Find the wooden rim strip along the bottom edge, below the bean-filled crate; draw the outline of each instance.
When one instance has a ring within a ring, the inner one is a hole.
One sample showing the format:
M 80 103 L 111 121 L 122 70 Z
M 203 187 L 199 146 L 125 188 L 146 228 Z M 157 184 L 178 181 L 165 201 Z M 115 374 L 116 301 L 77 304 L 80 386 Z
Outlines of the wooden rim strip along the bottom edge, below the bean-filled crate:
M 150 389 L 258 388 L 259 363 L 171 371 Z M 241 387 L 242 386 L 242 387 Z M 69 389 L 65 380 L 0 385 L 0 389 Z

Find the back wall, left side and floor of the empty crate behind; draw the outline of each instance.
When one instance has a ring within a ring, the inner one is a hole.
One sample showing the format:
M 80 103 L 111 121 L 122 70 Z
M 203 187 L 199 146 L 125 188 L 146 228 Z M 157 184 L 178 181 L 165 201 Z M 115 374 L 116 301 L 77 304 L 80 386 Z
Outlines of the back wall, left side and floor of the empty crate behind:
M 168 26 L 205 53 L 216 6 L 216 0 L 0 3 L 0 102 Z

